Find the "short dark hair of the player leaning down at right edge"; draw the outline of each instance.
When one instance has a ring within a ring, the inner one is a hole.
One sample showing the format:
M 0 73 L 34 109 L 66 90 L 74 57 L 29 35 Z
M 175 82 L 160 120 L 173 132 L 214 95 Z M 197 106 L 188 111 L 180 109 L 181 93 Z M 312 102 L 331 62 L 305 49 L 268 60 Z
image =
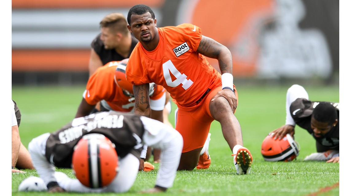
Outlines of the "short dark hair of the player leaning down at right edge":
M 338 117 L 337 109 L 329 102 L 320 102 L 312 112 L 312 117 L 319 122 L 334 123 Z

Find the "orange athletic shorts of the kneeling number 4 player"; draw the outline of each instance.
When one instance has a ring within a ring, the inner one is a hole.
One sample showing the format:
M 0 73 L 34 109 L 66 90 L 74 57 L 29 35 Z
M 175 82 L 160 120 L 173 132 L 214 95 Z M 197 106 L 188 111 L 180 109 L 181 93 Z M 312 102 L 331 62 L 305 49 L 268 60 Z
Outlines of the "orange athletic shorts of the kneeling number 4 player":
M 237 90 L 234 85 L 233 88 L 235 89 L 238 104 Z M 193 111 L 183 111 L 179 108 L 176 110 L 175 129 L 179 131 L 183 137 L 182 152 L 189 152 L 204 146 L 208 137 L 210 124 L 214 121 L 214 118 L 212 118 L 209 111 L 209 103 L 212 97 L 221 90 L 221 86 L 210 90 L 206 97 L 201 101 L 201 104 Z

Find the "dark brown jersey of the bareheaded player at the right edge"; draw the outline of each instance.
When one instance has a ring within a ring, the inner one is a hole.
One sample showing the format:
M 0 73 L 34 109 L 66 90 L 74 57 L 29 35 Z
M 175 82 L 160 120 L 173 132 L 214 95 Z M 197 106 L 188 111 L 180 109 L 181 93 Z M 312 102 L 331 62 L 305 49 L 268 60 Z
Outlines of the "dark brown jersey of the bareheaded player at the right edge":
M 289 111 L 294 122 L 303 129 L 306 129 L 315 140 L 328 149 L 339 150 L 339 103 L 330 103 L 337 108 L 338 123 L 323 137 L 315 137 L 311 129 L 311 114 L 319 101 L 310 101 L 305 98 L 297 98 L 290 105 Z

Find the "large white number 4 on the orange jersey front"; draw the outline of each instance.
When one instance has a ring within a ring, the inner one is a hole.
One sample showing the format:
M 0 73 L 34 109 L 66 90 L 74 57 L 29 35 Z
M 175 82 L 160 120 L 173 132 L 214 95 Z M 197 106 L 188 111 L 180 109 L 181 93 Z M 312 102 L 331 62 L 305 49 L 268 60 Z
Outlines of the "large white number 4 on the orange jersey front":
M 176 80 L 172 81 L 172 77 L 170 76 L 169 72 L 171 72 L 176 77 Z M 167 85 L 170 87 L 176 87 L 182 84 L 182 88 L 187 90 L 193 84 L 190 79 L 186 79 L 187 76 L 185 74 L 181 74 L 180 71 L 176 69 L 170 60 L 163 64 L 163 75 L 165 81 L 167 82 Z

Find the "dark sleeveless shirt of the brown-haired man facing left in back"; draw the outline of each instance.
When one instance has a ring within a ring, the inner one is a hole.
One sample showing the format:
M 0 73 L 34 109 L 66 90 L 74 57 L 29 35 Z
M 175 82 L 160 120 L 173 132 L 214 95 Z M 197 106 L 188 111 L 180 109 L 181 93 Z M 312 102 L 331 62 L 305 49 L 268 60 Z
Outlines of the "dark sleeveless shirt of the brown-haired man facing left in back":
M 119 53 L 117 53 L 116 50 L 114 49 L 106 50 L 102 40 L 100 39 L 100 36 L 101 36 L 101 33 L 91 42 L 91 48 L 93 48 L 93 50 L 100 57 L 103 65 L 111 61 L 121 61 L 123 59 L 126 59 L 123 56 L 121 56 Z M 137 40 L 133 35 L 131 37 L 132 37 L 131 48 L 127 58 L 130 57 L 131 52 L 133 51 L 136 44 L 139 42 L 139 40 Z

